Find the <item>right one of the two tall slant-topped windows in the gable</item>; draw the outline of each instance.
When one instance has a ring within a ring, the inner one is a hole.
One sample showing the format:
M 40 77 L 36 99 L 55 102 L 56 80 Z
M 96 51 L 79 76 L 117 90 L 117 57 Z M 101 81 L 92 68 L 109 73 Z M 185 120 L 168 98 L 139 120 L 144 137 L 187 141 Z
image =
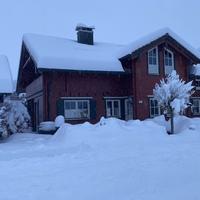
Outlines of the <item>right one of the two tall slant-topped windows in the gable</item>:
M 174 54 L 168 49 L 165 49 L 164 51 L 164 66 L 165 75 L 171 74 L 174 70 Z

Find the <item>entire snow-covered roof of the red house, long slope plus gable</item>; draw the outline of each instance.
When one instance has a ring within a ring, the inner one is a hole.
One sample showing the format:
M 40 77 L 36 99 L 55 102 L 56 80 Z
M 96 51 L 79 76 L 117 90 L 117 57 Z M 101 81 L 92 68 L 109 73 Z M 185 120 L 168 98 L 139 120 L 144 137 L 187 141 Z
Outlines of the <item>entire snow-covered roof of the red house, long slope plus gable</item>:
M 200 52 L 169 28 L 160 29 L 124 46 L 97 42 L 94 45 L 86 45 L 75 40 L 38 34 L 25 34 L 23 41 L 38 68 L 123 72 L 119 58 L 166 34 L 200 59 Z

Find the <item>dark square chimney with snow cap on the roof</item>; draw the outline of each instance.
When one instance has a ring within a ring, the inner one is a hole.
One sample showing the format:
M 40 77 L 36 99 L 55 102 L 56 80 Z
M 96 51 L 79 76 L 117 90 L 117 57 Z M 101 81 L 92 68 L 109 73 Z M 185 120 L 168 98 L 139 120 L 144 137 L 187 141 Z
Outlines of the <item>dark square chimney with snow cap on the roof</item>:
M 86 26 L 85 24 L 78 24 L 76 26 L 77 42 L 81 44 L 94 44 L 93 30 L 94 26 Z

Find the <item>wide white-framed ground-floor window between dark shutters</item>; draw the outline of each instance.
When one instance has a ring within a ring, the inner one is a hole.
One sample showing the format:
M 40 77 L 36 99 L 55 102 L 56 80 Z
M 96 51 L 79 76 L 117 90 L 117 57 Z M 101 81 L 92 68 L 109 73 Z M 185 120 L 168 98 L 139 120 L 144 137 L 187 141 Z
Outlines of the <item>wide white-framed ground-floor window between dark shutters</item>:
M 89 119 L 89 100 L 65 100 L 66 119 Z

